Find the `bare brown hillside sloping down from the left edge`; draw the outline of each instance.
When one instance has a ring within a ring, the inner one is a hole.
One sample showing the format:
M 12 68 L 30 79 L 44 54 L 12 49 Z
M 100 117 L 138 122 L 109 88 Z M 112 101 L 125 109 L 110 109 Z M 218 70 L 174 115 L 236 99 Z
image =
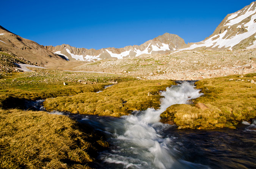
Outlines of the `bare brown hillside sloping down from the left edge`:
M 7 29 L 0 26 L 0 47 L 2 50 L 9 51 L 18 57 L 22 57 L 30 62 L 47 65 L 48 62 L 58 63 L 61 60 L 66 60 L 63 56 L 60 57 L 46 50 L 44 46 L 38 43 L 24 39 Z

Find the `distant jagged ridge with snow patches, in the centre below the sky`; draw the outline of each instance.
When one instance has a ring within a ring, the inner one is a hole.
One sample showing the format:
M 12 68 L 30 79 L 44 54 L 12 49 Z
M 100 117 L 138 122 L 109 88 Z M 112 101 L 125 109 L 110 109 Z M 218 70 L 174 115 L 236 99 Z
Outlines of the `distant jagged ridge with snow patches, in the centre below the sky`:
M 127 46 L 124 48 L 103 48 L 100 50 L 75 48 L 70 45 L 46 46 L 45 48 L 67 60 L 96 61 L 101 59 L 123 59 L 136 57 L 141 54 L 165 54 L 170 51 L 186 47 L 184 40 L 174 34 L 165 33 L 141 45 Z

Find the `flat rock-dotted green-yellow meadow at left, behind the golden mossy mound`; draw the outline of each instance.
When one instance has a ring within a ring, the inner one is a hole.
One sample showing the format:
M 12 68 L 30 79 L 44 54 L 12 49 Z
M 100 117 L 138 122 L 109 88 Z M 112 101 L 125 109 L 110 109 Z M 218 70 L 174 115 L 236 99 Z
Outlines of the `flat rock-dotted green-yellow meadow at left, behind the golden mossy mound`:
M 23 109 L 24 100 L 71 96 L 83 92 L 103 90 L 113 77 L 94 77 L 95 74 L 69 73 L 58 70 L 34 69 L 34 72 L 0 73 L 0 107 Z M 87 79 L 97 84 L 82 84 L 78 79 Z M 123 78 L 125 79 L 125 78 Z M 123 80 L 121 79 L 121 80 Z M 63 85 L 66 82 L 68 85 Z

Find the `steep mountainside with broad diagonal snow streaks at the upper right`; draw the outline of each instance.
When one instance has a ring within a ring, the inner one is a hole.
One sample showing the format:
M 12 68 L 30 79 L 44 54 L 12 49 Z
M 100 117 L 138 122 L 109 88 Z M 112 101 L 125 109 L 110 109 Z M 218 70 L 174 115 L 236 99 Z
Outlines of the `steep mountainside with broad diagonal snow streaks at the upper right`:
M 189 45 L 190 47 L 182 50 L 199 47 L 213 50 L 256 48 L 256 2 L 228 14 L 211 36 Z

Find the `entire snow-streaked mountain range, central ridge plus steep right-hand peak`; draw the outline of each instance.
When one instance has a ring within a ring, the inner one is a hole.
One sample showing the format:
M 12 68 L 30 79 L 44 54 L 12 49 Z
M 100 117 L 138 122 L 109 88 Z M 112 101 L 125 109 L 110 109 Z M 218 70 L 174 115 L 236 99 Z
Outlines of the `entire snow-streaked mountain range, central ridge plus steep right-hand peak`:
M 196 48 L 212 50 L 237 50 L 256 48 L 256 2 L 243 9 L 228 14 L 214 33 L 201 42 L 185 44 L 174 34 L 165 33 L 140 46 L 124 48 L 103 48 L 100 50 L 75 48 L 70 45 L 46 46 L 47 50 L 66 57 L 67 60 L 96 61 L 101 59 L 123 59 L 141 54 L 165 54 L 172 51 L 193 50 Z

